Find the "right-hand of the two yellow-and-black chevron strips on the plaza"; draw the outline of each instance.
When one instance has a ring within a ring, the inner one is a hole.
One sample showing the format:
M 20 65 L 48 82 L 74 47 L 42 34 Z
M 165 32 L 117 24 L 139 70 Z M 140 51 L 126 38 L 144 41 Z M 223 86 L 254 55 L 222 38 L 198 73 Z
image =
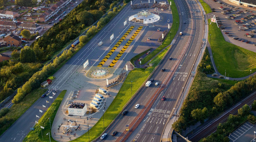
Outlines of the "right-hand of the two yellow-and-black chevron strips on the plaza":
M 129 39 L 129 41 L 127 41 L 127 43 L 125 44 L 123 49 L 116 55 L 116 58 L 111 62 L 111 64 L 108 67 L 115 66 L 116 62 L 121 58 L 121 56 L 124 54 L 125 50 L 131 45 L 133 39 L 136 38 L 136 36 L 138 35 L 138 33 L 141 31 L 142 28 L 143 28 L 143 26 L 140 26 L 137 29 L 137 31 L 132 35 L 132 37 Z

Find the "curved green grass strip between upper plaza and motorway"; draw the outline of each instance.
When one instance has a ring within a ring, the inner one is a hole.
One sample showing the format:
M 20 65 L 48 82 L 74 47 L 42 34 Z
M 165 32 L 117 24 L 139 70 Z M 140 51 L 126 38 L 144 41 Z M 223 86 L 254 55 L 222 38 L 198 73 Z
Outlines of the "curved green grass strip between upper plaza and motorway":
M 176 23 L 178 26 L 174 26 L 174 24 L 172 25 L 170 32 L 168 32 L 168 34 L 166 35 L 163 43 L 162 43 L 162 50 L 164 49 L 164 47 L 168 46 L 169 44 L 171 44 L 170 41 L 172 41 L 172 39 L 174 38 L 175 34 L 178 32 L 178 27 L 180 25 L 180 18 L 179 18 L 179 14 L 178 14 L 178 10 L 177 7 L 174 3 L 174 0 L 168 0 L 169 3 L 172 2 L 171 5 L 171 9 L 172 9 L 172 19 L 173 22 L 172 23 Z M 177 27 L 177 28 L 176 28 Z M 146 56 L 144 59 L 141 60 L 141 64 L 145 64 L 147 63 L 149 60 L 151 60 L 154 56 L 156 56 L 156 54 L 158 54 L 161 51 L 161 46 L 157 47 L 156 50 L 154 50 L 153 52 L 149 53 L 148 56 Z

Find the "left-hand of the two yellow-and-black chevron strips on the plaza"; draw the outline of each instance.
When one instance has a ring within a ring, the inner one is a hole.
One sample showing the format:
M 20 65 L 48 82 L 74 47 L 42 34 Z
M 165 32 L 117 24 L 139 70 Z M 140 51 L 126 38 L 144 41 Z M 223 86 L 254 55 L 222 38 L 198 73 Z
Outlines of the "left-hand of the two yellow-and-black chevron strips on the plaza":
M 124 39 L 127 37 L 127 35 L 132 31 L 132 29 L 135 26 L 131 26 L 124 35 L 117 41 L 116 45 L 107 53 L 107 55 L 100 61 L 99 65 L 97 67 L 102 67 L 104 63 L 108 60 L 108 58 L 114 53 L 116 48 L 124 41 Z

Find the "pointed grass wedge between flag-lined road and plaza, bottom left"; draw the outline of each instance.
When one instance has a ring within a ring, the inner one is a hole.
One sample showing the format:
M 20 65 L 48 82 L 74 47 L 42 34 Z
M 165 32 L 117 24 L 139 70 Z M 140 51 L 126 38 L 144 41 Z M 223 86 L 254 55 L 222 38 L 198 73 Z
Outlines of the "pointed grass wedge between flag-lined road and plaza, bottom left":
M 60 95 L 54 100 L 52 105 L 46 110 L 44 115 L 38 120 L 38 124 L 35 125 L 35 130 L 30 131 L 28 135 L 24 138 L 23 141 L 26 142 L 35 142 L 35 141 L 46 141 L 49 142 L 49 136 L 46 135 L 48 132 L 50 132 L 50 137 L 52 136 L 51 134 L 51 128 L 49 127 L 49 117 L 52 119 L 55 118 L 55 115 L 57 114 L 57 111 L 60 107 L 60 103 L 62 102 L 63 97 L 65 96 L 67 90 L 63 90 L 60 92 Z M 51 124 L 52 125 L 52 124 Z M 41 129 L 40 126 L 43 126 L 44 129 Z M 41 130 L 42 134 L 41 134 Z M 44 140 L 42 139 L 42 135 Z M 55 141 L 53 138 L 51 138 L 51 141 Z

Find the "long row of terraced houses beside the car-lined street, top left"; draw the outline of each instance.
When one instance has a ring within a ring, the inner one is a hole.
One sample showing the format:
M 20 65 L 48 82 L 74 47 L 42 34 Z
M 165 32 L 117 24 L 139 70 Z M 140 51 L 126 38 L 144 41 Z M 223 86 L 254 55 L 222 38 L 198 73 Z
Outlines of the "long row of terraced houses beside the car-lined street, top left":
M 52 8 L 45 11 L 42 15 L 40 15 L 37 19 L 40 22 L 48 21 L 52 16 L 57 14 L 61 8 L 64 8 L 71 0 L 60 0 L 57 4 L 54 4 Z

